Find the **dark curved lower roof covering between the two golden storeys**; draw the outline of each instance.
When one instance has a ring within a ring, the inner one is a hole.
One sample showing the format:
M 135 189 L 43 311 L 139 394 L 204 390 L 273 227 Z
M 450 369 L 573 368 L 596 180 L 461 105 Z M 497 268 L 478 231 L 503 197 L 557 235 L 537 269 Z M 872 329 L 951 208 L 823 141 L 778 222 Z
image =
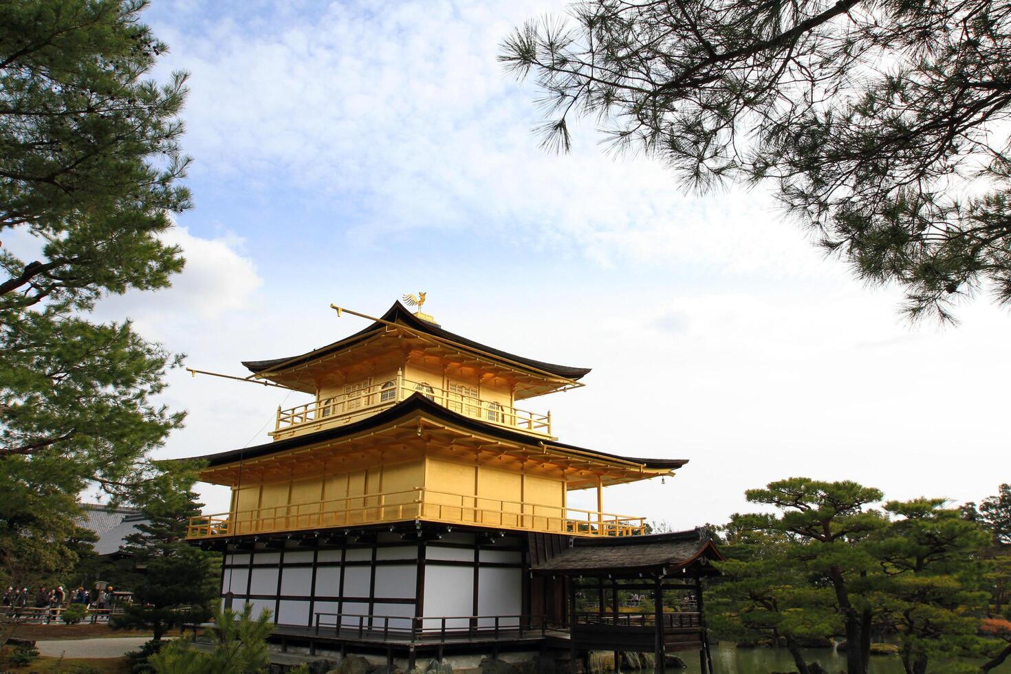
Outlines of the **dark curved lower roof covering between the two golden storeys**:
M 401 400 L 392 407 L 384 409 L 381 412 L 373 414 L 372 416 L 367 416 L 360 421 L 355 421 L 353 423 L 348 423 L 341 426 L 336 426 L 333 428 L 327 428 L 325 430 L 316 430 L 315 432 L 307 432 L 302 436 L 295 436 L 293 438 L 285 438 L 284 440 L 279 440 L 272 443 L 266 443 L 264 445 L 257 445 L 255 447 L 248 447 L 240 450 L 229 450 L 227 452 L 219 452 L 217 454 L 208 454 L 202 457 L 191 457 L 185 459 L 184 461 L 204 461 L 208 467 L 221 466 L 223 464 L 228 464 L 240 460 L 256 459 L 258 457 L 268 456 L 271 454 L 277 454 L 278 452 L 284 452 L 287 450 L 294 450 L 299 447 L 304 447 L 306 445 L 313 445 L 315 443 L 321 443 L 329 440 L 337 440 L 346 436 L 351 436 L 354 434 L 361 432 L 363 430 L 370 430 L 382 426 L 391 421 L 395 421 L 401 417 L 407 416 L 416 411 L 425 412 L 427 416 L 446 421 L 447 423 L 452 423 L 455 426 L 464 428 L 466 430 L 472 430 L 475 432 L 480 432 L 486 436 L 491 436 L 494 438 L 500 438 L 502 440 L 509 440 L 513 442 L 519 442 L 526 445 L 538 445 L 543 443 L 546 448 L 558 449 L 562 451 L 579 452 L 583 454 L 588 454 L 592 456 L 602 457 L 605 459 L 619 459 L 621 461 L 629 461 L 636 464 L 643 464 L 647 468 L 667 468 L 674 470 L 680 468 L 688 462 L 687 459 L 641 459 L 637 457 L 623 457 L 618 454 L 608 454 L 606 452 L 598 452 L 595 450 L 586 450 L 581 447 L 576 447 L 574 445 L 566 445 L 564 443 L 558 443 L 554 441 L 540 439 L 534 436 L 528 436 L 523 432 L 516 430 L 510 430 L 509 428 L 503 428 L 501 426 L 493 425 L 491 423 L 485 423 L 479 419 L 460 414 L 459 412 L 454 412 L 451 409 L 443 407 L 442 405 L 429 400 L 427 397 L 420 393 L 415 393 L 410 397 Z

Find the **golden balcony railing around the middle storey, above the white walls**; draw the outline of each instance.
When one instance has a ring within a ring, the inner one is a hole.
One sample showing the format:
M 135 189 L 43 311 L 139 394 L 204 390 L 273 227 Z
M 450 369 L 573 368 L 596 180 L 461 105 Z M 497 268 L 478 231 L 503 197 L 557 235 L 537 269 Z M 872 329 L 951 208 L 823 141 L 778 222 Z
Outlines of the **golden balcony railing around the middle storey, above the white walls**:
M 417 488 L 190 517 L 188 539 L 424 519 L 571 536 L 641 536 L 643 517 Z

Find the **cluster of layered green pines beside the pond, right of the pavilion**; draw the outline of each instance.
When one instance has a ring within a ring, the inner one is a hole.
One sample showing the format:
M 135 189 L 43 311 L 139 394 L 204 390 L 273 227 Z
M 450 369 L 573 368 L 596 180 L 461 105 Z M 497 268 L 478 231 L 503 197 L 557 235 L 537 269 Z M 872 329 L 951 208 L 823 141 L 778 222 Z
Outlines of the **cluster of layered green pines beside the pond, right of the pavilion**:
M 849 481 L 790 478 L 746 493 L 778 512 L 735 514 L 724 527 L 728 561 L 709 602 L 722 634 L 785 643 L 802 674 L 821 670 L 804 643 L 840 636 L 846 671 L 866 674 L 875 631 L 898 643 L 907 674 L 938 662 L 978 671 L 966 658 L 1004 652 L 1002 623 L 986 618 L 990 536 L 962 510 L 882 503 L 880 490 Z

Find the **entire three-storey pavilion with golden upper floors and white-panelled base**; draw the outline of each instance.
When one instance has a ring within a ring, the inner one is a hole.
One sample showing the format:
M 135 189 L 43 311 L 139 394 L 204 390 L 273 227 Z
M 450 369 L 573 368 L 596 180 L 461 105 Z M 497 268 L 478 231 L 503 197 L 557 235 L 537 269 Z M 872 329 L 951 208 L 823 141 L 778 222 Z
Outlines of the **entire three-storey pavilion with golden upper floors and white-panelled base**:
M 604 650 L 651 653 L 658 671 L 666 651 L 698 651 L 711 669 L 700 579 L 719 552 L 702 529 L 650 535 L 604 505 L 607 487 L 686 460 L 567 445 L 550 412 L 517 406 L 581 386 L 588 369 L 478 344 L 399 302 L 371 321 L 244 363 L 311 399 L 277 410 L 270 442 L 201 457 L 201 480 L 227 485 L 232 503 L 188 538 L 224 553 L 225 603 L 269 608 L 286 646 L 411 667 L 533 651 L 574 671 Z M 596 508 L 571 507 L 574 490 Z M 619 605 L 630 594 L 649 610 Z

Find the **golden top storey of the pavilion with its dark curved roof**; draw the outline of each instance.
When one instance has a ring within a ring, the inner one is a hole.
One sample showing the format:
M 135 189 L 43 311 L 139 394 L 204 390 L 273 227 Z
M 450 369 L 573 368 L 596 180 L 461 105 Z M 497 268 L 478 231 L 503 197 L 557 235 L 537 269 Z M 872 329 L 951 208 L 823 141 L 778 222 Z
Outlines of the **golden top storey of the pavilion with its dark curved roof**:
M 282 440 L 351 423 L 418 393 L 484 423 L 554 437 L 550 411 L 528 411 L 516 402 L 581 386 L 588 368 L 510 354 L 429 318 L 395 302 L 365 329 L 320 349 L 245 361 L 256 378 L 314 397 L 279 408 L 270 435 Z

